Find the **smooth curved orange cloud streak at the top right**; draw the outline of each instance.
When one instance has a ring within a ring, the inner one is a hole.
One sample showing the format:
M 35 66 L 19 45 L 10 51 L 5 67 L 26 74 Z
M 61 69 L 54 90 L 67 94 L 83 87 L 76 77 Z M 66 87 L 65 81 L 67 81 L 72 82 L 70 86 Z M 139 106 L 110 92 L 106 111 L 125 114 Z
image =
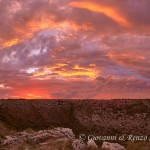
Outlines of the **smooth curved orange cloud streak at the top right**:
M 115 8 L 110 7 L 110 6 L 104 6 L 99 3 L 95 2 L 71 2 L 69 4 L 72 7 L 76 8 L 85 8 L 88 9 L 92 12 L 98 12 L 98 13 L 103 13 L 107 17 L 111 18 L 115 22 L 119 23 L 122 26 L 129 27 L 130 23 L 124 16 L 120 14 Z

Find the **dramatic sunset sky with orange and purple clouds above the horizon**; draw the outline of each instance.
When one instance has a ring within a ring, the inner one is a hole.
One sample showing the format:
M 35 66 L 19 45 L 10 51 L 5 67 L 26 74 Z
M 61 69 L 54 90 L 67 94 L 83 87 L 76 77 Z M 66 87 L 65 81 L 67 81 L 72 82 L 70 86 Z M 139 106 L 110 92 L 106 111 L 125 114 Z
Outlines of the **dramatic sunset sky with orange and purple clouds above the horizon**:
M 0 0 L 0 98 L 150 98 L 149 6 Z

